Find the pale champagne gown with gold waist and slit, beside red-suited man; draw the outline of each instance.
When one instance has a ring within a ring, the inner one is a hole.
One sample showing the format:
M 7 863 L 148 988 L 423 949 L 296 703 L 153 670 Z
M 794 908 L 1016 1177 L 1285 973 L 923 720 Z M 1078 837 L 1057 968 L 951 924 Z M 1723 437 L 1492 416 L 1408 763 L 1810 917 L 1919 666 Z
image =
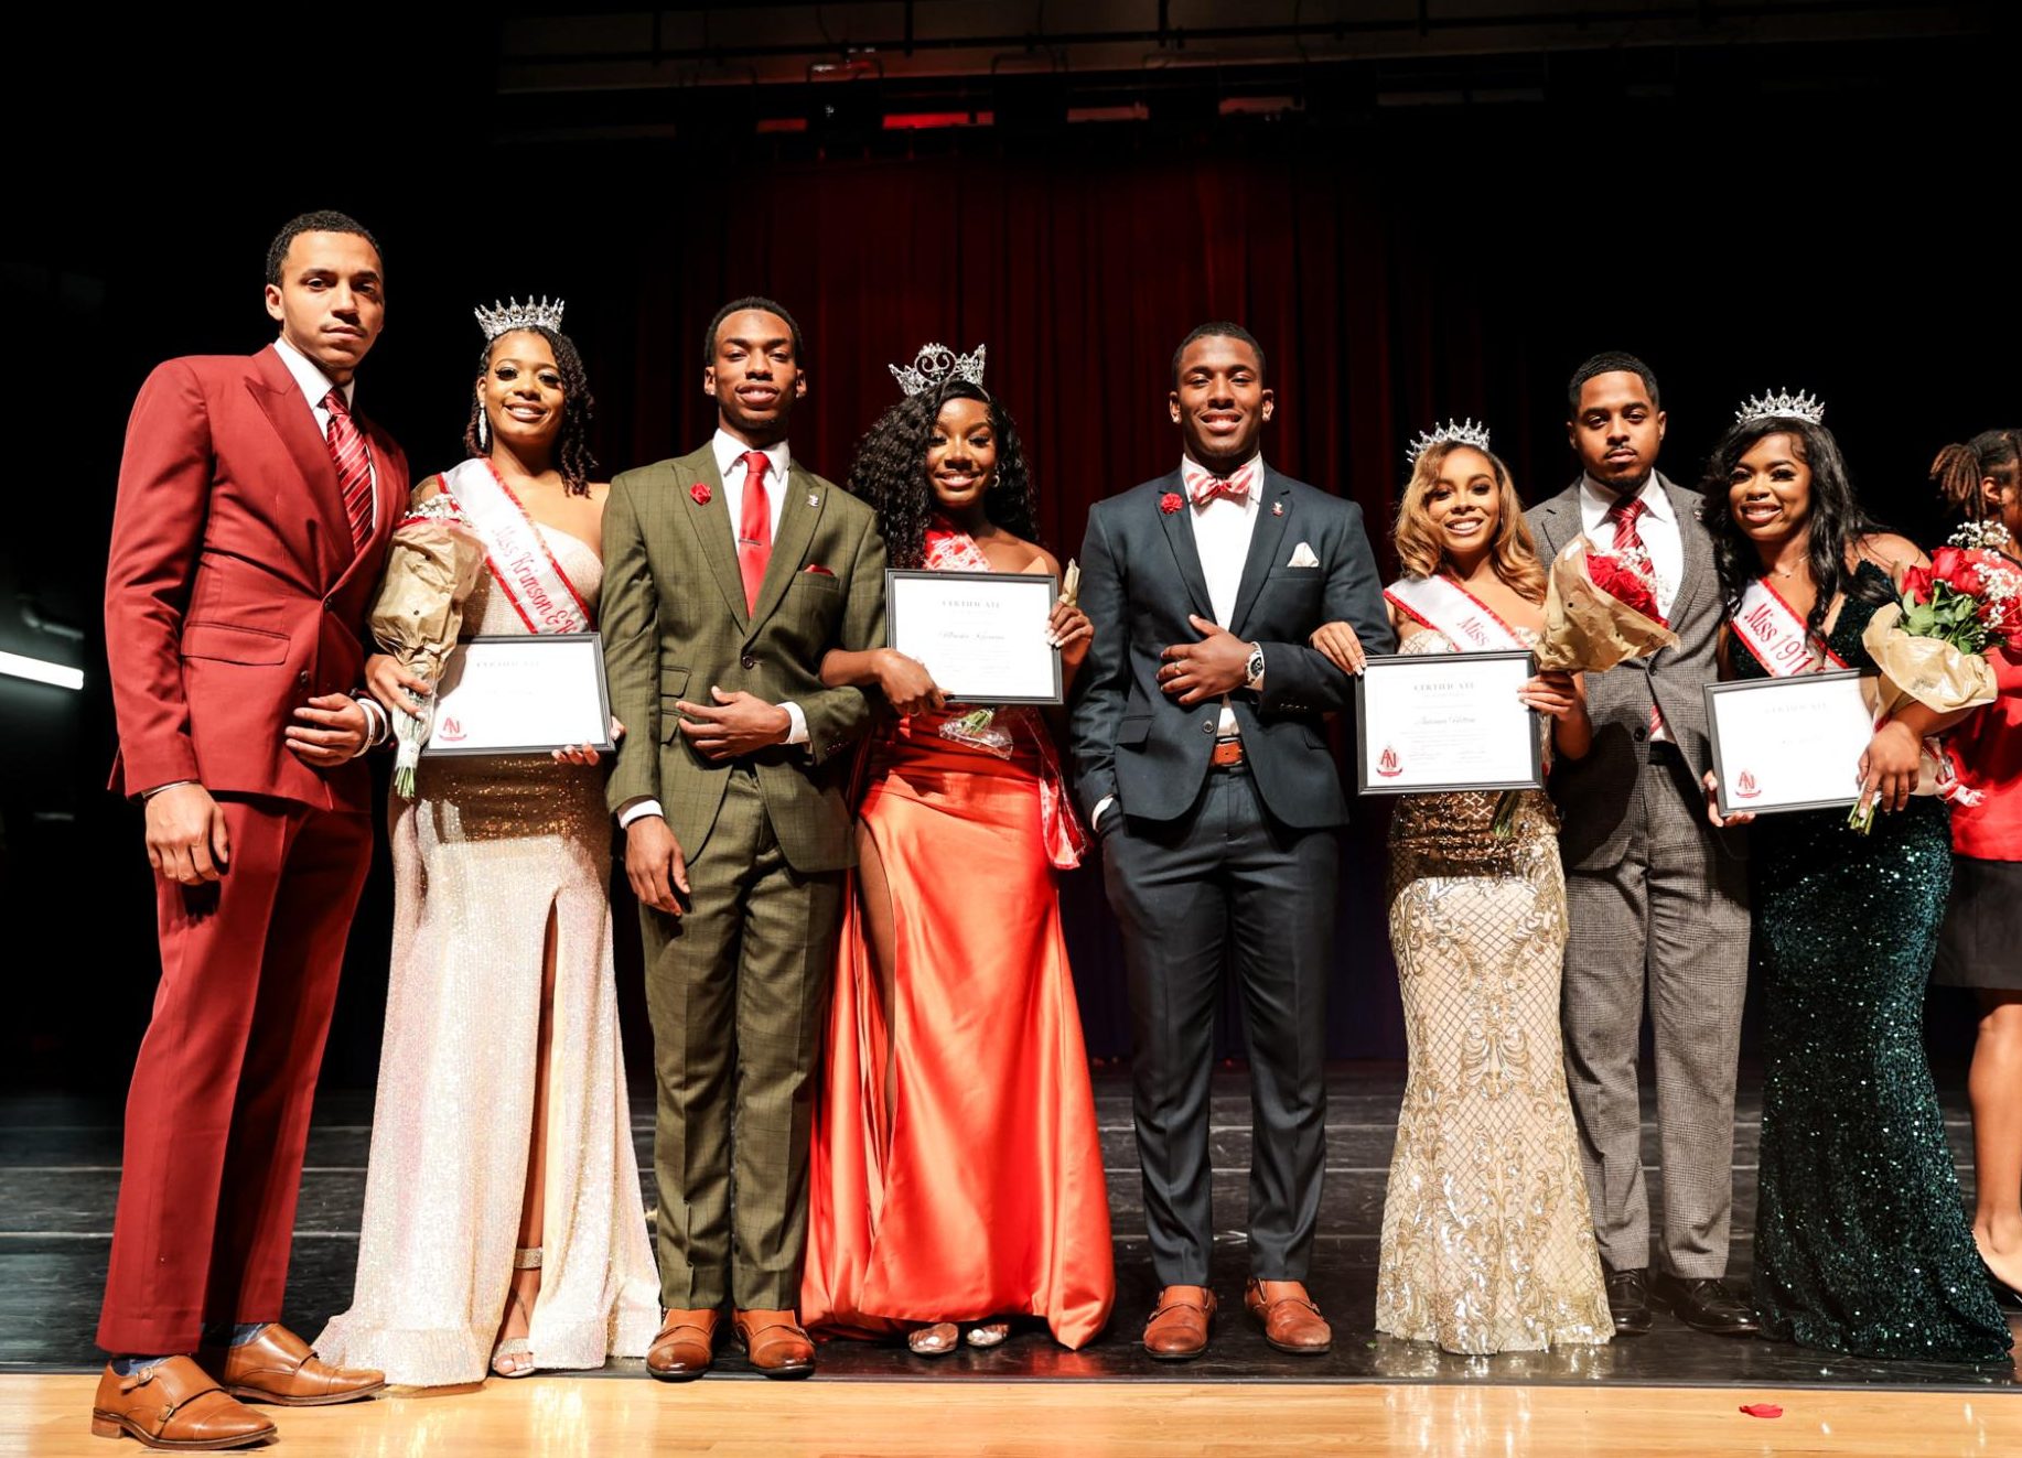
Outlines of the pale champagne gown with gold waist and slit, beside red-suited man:
M 584 601 L 596 554 L 540 528 Z M 524 633 L 489 572 L 467 633 Z M 392 801 L 394 936 L 352 1308 L 326 1361 L 406 1385 L 485 1375 L 518 1246 L 534 1116 L 542 950 L 554 934 L 548 1177 L 536 1367 L 645 1353 L 659 1278 L 645 1238 L 611 963 L 603 770 L 421 762 Z

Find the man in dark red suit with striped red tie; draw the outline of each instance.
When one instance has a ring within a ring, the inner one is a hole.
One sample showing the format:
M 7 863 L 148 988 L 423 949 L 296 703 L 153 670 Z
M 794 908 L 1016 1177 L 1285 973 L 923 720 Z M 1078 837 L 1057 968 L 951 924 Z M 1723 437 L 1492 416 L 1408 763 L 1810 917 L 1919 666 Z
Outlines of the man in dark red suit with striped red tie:
M 372 853 L 356 692 L 406 459 L 352 411 L 384 322 L 378 245 L 342 212 L 267 253 L 279 338 L 170 360 L 127 425 L 105 574 L 115 793 L 146 805 L 162 983 L 127 1094 L 91 1430 L 231 1448 L 239 1399 L 328 1403 L 376 1371 L 279 1325 L 309 1100 Z

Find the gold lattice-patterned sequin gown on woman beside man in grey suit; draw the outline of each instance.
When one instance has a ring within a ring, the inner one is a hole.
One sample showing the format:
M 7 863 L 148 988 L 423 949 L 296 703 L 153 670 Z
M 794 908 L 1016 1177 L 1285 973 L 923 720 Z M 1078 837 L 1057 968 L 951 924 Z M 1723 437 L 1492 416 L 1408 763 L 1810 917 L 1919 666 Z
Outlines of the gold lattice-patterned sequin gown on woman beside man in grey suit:
M 1523 635 L 1531 641 L 1531 635 Z M 1450 653 L 1436 631 L 1403 653 Z M 1391 817 L 1389 928 L 1409 1076 L 1383 1199 L 1377 1331 L 1458 1353 L 1614 1333 L 1559 1043 L 1565 878 L 1551 803 L 1494 793 Z

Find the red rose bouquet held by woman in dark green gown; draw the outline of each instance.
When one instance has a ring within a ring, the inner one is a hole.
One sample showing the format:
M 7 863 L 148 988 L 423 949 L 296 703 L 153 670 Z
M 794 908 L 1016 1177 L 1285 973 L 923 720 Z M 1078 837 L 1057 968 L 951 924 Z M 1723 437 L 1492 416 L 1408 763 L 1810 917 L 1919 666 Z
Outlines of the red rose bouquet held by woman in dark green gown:
M 1911 700 L 1937 714 L 1994 702 L 1994 665 L 1986 655 L 2022 641 L 2022 568 L 1998 550 L 2006 540 L 1998 522 L 1969 522 L 1931 554 L 1931 566 L 1903 574 L 1899 601 L 1876 609 L 1860 635 L 1880 669 L 1876 726 Z M 1919 793 L 1975 799 L 1937 740 L 1925 740 L 1925 758 Z M 1846 823 L 1862 835 L 1870 831 L 1874 803 L 1856 803 Z

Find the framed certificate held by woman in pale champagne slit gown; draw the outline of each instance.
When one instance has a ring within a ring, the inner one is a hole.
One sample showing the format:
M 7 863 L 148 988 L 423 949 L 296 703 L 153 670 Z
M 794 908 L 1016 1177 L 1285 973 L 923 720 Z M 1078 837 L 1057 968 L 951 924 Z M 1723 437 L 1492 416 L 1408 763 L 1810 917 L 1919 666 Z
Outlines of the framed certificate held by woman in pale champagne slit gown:
M 601 633 L 501 633 L 457 645 L 435 690 L 423 756 L 611 750 Z

